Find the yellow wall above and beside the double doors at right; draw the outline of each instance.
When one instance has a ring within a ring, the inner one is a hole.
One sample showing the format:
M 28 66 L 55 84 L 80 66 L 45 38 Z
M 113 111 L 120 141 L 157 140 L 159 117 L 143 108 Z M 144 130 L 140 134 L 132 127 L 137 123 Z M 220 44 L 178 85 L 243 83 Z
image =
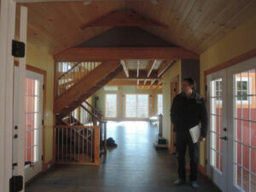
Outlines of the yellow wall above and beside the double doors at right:
M 221 39 L 217 44 L 207 49 L 200 55 L 200 79 L 201 95 L 204 96 L 204 71 L 218 66 L 224 61 L 229 61 L 238 55 L 242 55 L 249 50 L 256 49 L 256 16 L 237 27 L 234 32 Z M 203 153 L 204 145 L 201 143 L 200 163 L 205 165 Z

